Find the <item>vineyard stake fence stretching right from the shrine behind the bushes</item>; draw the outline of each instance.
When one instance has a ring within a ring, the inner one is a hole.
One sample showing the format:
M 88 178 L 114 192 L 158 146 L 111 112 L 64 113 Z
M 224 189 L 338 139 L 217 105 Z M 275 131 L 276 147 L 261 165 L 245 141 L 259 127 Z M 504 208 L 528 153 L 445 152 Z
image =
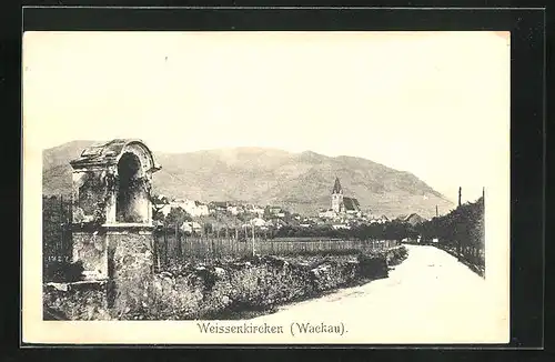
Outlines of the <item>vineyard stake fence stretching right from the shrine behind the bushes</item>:
M 359 251 L 379 251 L 397 245 L 394 240 L 279 240 L 186 237 L 180 230 L 163 229 L 154 233 L 154 257 L 159 267 L 184 260 L 210 260 L 248 255 L 346 254 Z

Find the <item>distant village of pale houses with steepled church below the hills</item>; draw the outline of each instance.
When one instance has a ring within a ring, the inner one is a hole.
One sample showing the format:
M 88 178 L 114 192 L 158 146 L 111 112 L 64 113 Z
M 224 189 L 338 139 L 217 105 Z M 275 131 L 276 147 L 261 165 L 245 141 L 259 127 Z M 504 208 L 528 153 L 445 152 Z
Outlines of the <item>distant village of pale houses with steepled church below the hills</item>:
M 361 225 L 385 224 L 397 221 L 416 225 L 426 221 L 417 213 L 402 214 L 390 219 L 363 212 L 357 199 L 343 194 L 339 178 L 335 178 L 330 195 L 330 208 L 321 209 L 317 214 L 303 215 L 280 205 L 260 205 L 238 201 L 212 201 L 174 199 L 159 194 L 153 198 L 153 223 L 162 228 L 169 215 L 181 215 L 180 230 L 188 234 L 203 234 L 208 231 L 230 229 L 254 229 L 260 232 L 278 231 L 285 227 L 315 230 L 351 230 Z M 173 222 L 176 220 L 172 219 Z M 268 234 L 268 233 L 266 233 Z

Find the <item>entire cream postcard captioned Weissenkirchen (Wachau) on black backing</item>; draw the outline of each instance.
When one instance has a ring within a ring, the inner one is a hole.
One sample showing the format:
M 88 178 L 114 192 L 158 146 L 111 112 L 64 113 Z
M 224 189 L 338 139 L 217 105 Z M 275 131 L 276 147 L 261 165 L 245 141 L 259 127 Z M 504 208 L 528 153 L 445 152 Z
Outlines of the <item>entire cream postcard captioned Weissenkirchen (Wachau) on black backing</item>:
M 42 343 L 505 343 L 509 32 L 26 32 Z

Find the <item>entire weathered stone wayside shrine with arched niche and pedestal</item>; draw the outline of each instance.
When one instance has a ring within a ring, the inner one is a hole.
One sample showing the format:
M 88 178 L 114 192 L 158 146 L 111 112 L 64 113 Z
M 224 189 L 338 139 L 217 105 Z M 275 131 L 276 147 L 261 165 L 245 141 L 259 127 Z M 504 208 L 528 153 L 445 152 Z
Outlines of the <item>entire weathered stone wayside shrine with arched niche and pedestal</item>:
M 108 281 L 112 302 L 139 290 L 153 265 L 152 174 L 161 167 L 141 140 L 93 145 L 73 168 L 73 253 L 83 279 Z

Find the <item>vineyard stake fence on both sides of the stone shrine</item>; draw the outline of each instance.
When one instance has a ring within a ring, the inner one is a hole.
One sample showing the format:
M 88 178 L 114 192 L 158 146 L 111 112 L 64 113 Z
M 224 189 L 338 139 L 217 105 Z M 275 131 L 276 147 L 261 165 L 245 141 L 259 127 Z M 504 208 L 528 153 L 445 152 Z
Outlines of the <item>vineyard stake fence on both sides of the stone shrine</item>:
M 64 195 L 42 198 L 42 253 L 43 270 L 71 260 L 71 199 Z M 261 235 L 262 237 L 262 235 Z M 357 251 L 384 250 L 396 241 L 361 241 L 317 238 L 225 238 L 188 237 L 179 229 L 164 228 L 154 232 L 157 263 L 167 265 L 188 259 L 240 258 L 263 254 L 342 254 Z M 254 250 L 254 252 L 253 252 Z M 44 275 L 49 275 L 48 272 Z

